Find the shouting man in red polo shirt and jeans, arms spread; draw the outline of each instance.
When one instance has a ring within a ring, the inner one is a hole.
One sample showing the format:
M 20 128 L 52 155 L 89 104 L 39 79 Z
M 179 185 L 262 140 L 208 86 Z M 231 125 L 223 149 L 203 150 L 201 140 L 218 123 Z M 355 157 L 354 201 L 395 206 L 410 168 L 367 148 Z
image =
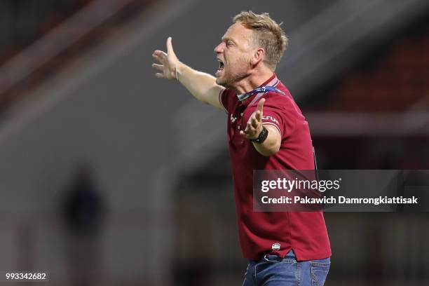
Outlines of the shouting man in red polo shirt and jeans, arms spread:
M 214 48 L 216 78 L 154 51 L 158 78 L 176 79 L 196 99 L 228 114 L 238 231 L 250 259 L 243 285 L 323 285 L 331 250 L 323 214 L 254 212 L 253 170 L 314 170 L 306 119 L 274 71 L 287 37 L 268 13 L 242 12 Z M 263 88 L 264 87 L 264 88 Z M 259 88 L 259 89 L 257 89 Z

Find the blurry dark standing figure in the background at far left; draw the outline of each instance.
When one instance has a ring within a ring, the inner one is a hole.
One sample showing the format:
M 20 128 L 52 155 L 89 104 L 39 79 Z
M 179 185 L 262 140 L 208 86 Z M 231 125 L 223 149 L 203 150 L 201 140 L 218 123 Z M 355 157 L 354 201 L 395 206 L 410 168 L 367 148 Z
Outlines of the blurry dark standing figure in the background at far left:
M 71 285 L 96 285 L 101 277 L 100 234 L 106 214 L 104 198 L 93 169 L 79 163 L 64 199 L 64 220 L 69 231 L 67 257 Z

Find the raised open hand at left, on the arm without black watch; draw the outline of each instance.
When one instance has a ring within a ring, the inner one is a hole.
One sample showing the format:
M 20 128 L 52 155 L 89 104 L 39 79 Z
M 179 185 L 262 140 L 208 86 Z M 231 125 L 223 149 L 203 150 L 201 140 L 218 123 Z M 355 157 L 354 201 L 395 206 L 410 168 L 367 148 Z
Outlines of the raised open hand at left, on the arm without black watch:
M 179 67 L 179 59 L 172 48 L 171 37 L 167 39 L 167 53 L 162 50 L 155 50 L 152 54 L 155 60 L 158 60 L 161 64 L 152 64 L 152 67 L 158 71 L 155 74 L 157 78 L 161 79 L 176 79 L 176 69 Z

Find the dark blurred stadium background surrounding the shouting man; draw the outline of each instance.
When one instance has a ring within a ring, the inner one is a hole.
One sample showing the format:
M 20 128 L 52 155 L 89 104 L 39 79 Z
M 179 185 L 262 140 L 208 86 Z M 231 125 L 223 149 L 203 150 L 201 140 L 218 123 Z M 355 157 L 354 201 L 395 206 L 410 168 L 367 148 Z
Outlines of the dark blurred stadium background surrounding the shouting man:
M 0 271 L 241 285 L 225 115 L 156 79 L 151 53 L 172 36 L 213 74 L 214 46 L 248 9 L 290 37 L 276 73 L 320 169 L 429 169 L 426 0 L 4 0 Z M 429 285 L 428 214 L 325 220 L 326 285 Z

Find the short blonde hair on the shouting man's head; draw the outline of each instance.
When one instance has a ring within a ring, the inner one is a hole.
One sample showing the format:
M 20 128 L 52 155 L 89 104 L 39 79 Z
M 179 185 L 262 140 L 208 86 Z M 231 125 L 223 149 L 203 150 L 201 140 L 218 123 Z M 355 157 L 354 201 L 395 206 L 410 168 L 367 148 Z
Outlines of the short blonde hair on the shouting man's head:
M 233 22 L 240 22 L 247 29 L 253 30 L 254 43 L 265 50 L 264 63 L 274 70 L 289 43 L 280 27 L 282 23 L 275 22 L 268 13 L 256 14 L 252 11 L 242 11 L 234 16 Z

